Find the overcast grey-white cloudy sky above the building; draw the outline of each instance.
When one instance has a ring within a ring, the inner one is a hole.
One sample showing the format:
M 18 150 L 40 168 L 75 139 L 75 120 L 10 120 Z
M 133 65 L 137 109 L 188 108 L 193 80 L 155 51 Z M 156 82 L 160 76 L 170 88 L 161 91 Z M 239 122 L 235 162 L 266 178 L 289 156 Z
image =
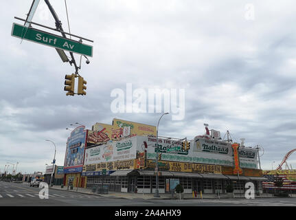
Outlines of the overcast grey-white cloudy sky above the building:
M 1 172 L 16 162 L 22 173 L 44 172 L 54 157 L 46 139 L 63 166 L 66 128 L 75 122 L 157 125 L 161 113 L 111 111 L 111 91 L 126 92 L 126 83 L 185 90 L 183 120 L 165 115 L 159 135 L 192 139 L 204 123 L 222 136 L 229 130 L 233 140 L 264 148 L 263 169 L 296 148 L 295 1 L 68 0 L 71 33 L 94 41 L 83 41 L 93 45 L 80 70 L 87 96 L 71 97 L 63 87 L 74 67 L 52 47 L 11 36 L 12 23 L 23 25 L 14 17 L 25 19 L 31 3 L 1 3 Z M 51 3 L 68 32 L 65 1 Z M 55 27 L 42 0 L 33 21 Z M 288 164 L 296 167 L 296 153 Z

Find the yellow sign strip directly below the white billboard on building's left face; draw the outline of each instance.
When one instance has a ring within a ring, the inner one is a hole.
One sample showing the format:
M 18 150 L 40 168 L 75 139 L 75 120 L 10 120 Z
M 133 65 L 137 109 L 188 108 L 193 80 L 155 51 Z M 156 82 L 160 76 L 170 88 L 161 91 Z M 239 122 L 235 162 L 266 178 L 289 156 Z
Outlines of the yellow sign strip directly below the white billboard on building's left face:
M 102 162 L 83 166 L 83 172 L 101 170 L 133 170 L 136 166 L 135 159 L 127 159 L 114 162 Z

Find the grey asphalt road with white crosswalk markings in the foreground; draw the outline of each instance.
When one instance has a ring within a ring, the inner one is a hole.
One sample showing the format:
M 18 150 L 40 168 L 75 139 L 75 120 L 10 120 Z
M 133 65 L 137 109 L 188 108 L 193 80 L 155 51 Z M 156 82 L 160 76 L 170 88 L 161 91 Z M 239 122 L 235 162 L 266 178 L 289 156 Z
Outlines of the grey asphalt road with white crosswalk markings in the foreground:
M 0 206 L 296 206 L 296 198 L 266 199 L 117 199 L 0 181 Z

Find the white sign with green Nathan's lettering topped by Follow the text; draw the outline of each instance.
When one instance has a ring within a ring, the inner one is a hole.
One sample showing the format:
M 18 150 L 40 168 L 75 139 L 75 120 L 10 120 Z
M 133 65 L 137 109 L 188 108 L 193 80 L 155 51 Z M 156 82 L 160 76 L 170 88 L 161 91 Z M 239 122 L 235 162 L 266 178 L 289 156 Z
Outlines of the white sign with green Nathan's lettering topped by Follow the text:
M 225 142 L 219 142 L 217 140 L 206 140 L 197 138 L 195 140 L 196 148 L 194 151 L 205 152 L 205 153 L 220 153 L 224 155 L 230 154 L 231 145 Z

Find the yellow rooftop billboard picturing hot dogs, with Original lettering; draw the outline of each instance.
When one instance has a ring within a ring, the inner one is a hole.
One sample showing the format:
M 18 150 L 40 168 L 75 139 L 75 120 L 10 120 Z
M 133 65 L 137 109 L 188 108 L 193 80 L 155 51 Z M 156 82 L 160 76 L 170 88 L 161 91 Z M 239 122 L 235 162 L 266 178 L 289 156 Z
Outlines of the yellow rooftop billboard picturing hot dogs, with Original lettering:
M 122 137 L 133 137 L 136 135 L 156 135 L 156 126 L 114 118 L 112 125 L 94 124 L 92 131 L 88 133 L 87 143 L 104 144 L 109 142 L 109 140 L 120 140 Z

